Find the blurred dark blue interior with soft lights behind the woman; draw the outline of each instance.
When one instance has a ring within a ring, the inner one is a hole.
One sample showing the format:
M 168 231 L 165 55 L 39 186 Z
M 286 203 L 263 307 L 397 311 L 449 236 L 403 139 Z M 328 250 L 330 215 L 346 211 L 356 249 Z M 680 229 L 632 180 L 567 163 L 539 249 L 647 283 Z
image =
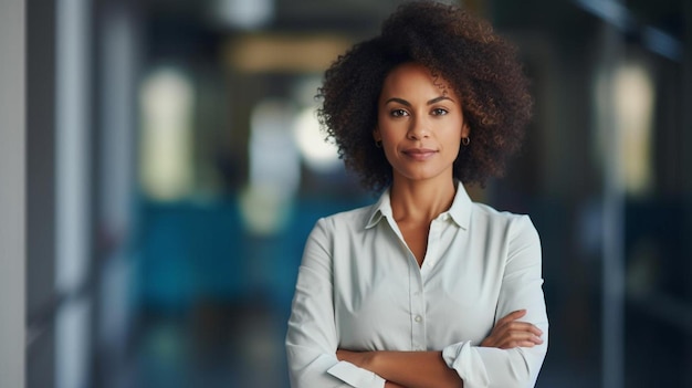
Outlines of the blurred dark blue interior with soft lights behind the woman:
M 314 95 L 400 2 L 27 1 L 28 387 L 287 387 L 305 238 L 374 200 Z M 537 386 L 692 387 L 691 2 L 462 4 L 533 80 L 471 191 L 542 235 Z

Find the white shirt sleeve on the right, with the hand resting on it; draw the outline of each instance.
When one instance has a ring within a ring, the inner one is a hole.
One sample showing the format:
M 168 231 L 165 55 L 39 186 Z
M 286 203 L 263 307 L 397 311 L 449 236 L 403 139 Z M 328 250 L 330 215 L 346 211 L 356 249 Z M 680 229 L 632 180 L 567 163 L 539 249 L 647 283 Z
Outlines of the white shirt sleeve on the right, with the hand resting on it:
M 532 348 L 499 349 L 462 342 L 447 346 L 442 357 L 457 370 L 464 388 L 534 387 L 548 346 L 548 319 L 543 295 L 541 241 L 526 216 L 508 230 L 507 258 L 497 300 L 495 322 L 511 312 L 526 308 L 521 319 L 543 332 L 543 344 Z

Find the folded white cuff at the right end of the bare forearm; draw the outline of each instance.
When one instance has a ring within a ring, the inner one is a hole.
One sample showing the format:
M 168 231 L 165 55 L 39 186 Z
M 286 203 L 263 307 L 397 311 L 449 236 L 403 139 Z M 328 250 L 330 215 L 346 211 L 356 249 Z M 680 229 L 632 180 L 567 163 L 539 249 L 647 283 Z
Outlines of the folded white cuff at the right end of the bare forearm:
M 457 370 L 464 382 L 464 388 L 486 388 L 490 385 L 487 370 L 471 342 L 453 344 L 442 349 L 447 366 Z

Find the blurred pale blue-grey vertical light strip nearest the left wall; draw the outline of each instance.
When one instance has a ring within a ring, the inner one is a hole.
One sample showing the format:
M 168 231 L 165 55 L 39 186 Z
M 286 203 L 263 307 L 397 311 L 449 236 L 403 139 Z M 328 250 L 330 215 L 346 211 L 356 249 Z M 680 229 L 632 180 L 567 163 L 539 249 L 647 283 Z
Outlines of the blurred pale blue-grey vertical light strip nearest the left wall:
M 88 283 L 91 269 L 91 1 L 60 1 L 55 12 L 54 297 L 63 297 L 63 302 L 55 302 L 54 386 L 76 388 L 86 387 L 91 373 L 91 301 L 75 296 L 77 290 Z M 50 255 L 44 259 L 51 260 Z M 41 284 L 31 290 L 48 291 L 51 285 Z

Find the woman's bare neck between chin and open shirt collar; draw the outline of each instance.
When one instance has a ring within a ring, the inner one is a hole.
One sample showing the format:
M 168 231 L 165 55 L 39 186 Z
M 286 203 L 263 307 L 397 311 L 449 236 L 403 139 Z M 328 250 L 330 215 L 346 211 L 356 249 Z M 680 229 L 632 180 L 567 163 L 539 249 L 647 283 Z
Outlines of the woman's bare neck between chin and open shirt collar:
M 438 181 L 395 181 L 389 200 L 397 221 L 430 222 L 449 210 L 457 193 L 453 179 Z

